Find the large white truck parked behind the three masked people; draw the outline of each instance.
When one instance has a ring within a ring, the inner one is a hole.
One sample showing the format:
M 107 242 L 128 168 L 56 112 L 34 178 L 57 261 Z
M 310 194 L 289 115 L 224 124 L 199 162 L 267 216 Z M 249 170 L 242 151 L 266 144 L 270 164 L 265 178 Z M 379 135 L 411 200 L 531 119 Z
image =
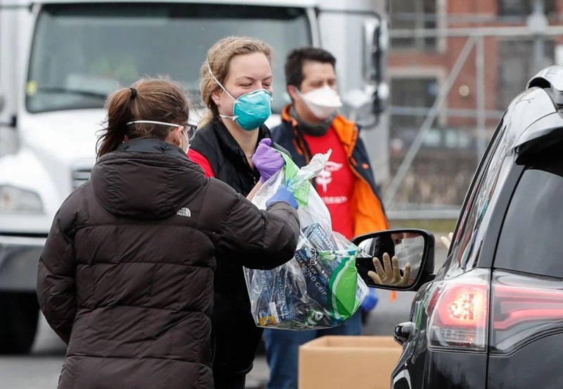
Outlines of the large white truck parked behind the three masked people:
M 331 51 L 348 113 L 375 128 L 362 137 L 383 178 L 383 10 L 383 0 L 0 0 L 0 353 L 33 345 L 37 260 L 56 210 L 89 179 L 108 94 L 169 75 L 199 101 L 201 63 L 222 37 L 274 48 L 270 126 L 287 102 L 286 54 Z

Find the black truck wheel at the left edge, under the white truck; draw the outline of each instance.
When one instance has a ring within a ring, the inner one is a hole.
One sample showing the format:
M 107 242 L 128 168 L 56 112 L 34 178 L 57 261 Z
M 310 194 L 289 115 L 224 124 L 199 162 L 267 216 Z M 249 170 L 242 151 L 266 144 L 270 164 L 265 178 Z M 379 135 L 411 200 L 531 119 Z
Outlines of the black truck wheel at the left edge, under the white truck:
M 0 292 L 0 354 L 30 352 L 38 319 L 37 294 Z

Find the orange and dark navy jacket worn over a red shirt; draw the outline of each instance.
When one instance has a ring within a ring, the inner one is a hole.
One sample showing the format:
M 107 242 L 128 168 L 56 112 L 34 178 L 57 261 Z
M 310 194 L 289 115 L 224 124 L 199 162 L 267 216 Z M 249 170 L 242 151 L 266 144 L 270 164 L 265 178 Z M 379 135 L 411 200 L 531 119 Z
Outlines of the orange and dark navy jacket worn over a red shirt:
M 272 129 L 272 140 L 288 150 L 293 161 L 302 167 L 309 163 L 312 155 L 297 121 L 289 114 L 289 107 L 286 106 L 281 113 L 281 124 Z M 356 178 L 354 195 L 350 200 L 355 214 L 354 235 L 388 230 L 389 222 L 375 185 L 374 173 L 369 166 L 364 142 L 359 137 L 358 126 L 340 115 L 334 118 L 331 126 L 344 146 Z

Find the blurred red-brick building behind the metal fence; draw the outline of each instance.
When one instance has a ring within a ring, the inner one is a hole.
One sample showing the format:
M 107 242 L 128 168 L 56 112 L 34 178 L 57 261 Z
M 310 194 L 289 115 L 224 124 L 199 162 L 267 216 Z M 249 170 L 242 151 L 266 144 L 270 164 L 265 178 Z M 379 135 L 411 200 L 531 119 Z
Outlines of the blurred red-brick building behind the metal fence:
M 562 13 L 563 0 L 388 1 L 391 209 L 459 209 L 510 101 L 538 70 L 563 63 Z

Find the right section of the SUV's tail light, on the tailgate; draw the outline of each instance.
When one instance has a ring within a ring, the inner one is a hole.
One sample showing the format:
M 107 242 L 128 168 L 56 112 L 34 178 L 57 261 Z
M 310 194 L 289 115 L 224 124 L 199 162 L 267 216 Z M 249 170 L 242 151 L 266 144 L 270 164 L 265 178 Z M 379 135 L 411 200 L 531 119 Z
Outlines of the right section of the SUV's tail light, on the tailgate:
M 491 352 L 510 353 L 537 335 L 563 330 L 563 283 L 495 271 Z

